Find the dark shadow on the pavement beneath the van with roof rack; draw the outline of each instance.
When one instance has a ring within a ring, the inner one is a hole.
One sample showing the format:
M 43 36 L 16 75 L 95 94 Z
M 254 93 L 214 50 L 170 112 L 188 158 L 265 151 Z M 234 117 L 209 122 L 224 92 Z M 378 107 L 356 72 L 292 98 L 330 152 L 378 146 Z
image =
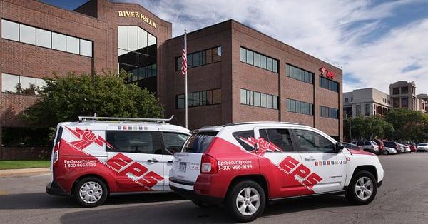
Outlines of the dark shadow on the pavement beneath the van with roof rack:
M 132 203 L 151 203 L 170 200 L 183 200 L 175 193 L 151 193 L 136 195 L 112 195 L 104 205 Z M 4 209 L 44 209 L 44 208 L 82 208 L 73 197 L 58 197 L 46 193 L 26 193 L 0 195 L 0 210 Z M 98 208 L 103 208 L 101 205 Z

